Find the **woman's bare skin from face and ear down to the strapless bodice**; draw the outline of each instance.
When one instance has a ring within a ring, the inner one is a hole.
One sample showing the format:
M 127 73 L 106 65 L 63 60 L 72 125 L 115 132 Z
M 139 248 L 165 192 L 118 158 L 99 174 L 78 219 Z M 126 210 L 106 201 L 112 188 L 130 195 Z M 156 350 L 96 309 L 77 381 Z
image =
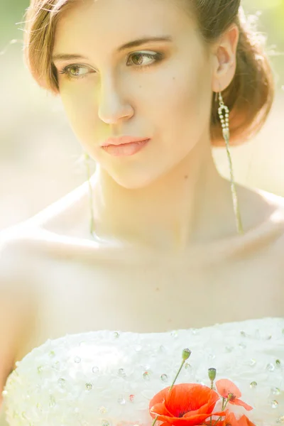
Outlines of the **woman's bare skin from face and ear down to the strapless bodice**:
M 15 313 L 13 295 L 5 310 L 0 298 L 0 391 L 14 362 L 48 338 L 283 315 L 284 207 L 237 185 L 239 236 L 229 182 L 212 160 L 211 99 L 234 77 L 238 29 L 231 26 L 206 50 L 195 21 L 178 6 L 85 2 L 58 24 L 54 55 L 89 58 L 55 65 L 87 70 L 79 80 L 59 74 L 59 86 L 72 129 L 97 161 L 91 189 L 98 239 L 89 234 L 88 185 L 2 233 L 0 273 L 13 274 L 13 286 L 1 276 L 0 285 L 25 295 L 19 300 L 28 315 Z M 173 43 L 116 53 L 146 35 L 170 35 Z M 165 58 L 156 65 L 144 58 L 152 64 L 144 69 L 126 65 L 141 51 Z M 127 158 L 102 151 L 102 141 L 125 134 L 151 142 Z

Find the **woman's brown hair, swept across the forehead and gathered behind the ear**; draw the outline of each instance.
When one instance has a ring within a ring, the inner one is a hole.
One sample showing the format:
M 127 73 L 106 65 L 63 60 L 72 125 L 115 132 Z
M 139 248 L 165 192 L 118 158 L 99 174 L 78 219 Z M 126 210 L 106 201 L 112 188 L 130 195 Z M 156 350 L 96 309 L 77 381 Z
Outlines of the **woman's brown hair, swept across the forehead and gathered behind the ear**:
M 237 145 L 258 133 L 273 104 L 275 85 L 265 39 L 246 20 L 241 0 L 183 1 L 194 12 L 206 46 L 216 42 L 232 24 L 239 28 L 236 72 L 222 92 L 230 111 L 230 141 Z M 39 86 L 55 95 L 60 93 L 52 62 L 55 28 L 62 13 L 77 3 L 78 0 L 31 0 L 26 10 L 23 48 L 26 65 Z M 212 94 L 210 133 L 212 146 L 224 146 L 215 94 Z

